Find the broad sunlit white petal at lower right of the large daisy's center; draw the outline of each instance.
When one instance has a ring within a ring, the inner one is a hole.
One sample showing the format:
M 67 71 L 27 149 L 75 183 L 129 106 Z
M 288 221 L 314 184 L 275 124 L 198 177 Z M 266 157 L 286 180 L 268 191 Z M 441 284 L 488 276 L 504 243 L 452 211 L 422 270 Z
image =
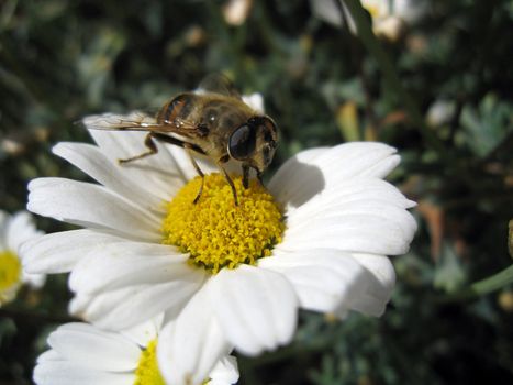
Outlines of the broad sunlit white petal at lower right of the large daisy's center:
M 301 307 L 333 312 L 367 290 L 369 273 L 349 254 L 337 250 L 276 251 L 259 266 L 281 273 L 294 287 Z

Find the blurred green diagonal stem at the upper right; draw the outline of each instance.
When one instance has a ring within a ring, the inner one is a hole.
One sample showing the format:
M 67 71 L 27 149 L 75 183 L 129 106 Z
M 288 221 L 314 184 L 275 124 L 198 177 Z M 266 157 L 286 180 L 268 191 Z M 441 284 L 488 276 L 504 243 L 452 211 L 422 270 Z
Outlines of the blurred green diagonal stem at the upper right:
M 339 0 L 336 1 L 338 2 Z M 355 21 L 356 29 L 358 31 L 358 37 L 361 40 L 369 53 L 378 62 L 378 65 L 380 66 L 381 72 L 383 73 L 384 81 L 388 85 L 388 87 L 395 91 L 397 96 L 404 105 L 404 108 L 406 109 L 410 119 L 416 127 L 419 127 L 419 130 L 421 131 L 421 134 L 426 141 L 426 143 L 432 148 L 434 148 L 440 156 L 448 157 L 448 153 L 445 148 L 445 145 L 426 125 L 419 107 L 402 86 L 399 75 L 395 72 L 395 68 L 392 64 L 392 61 L 390 59 L 389 55 L 383 50 L 380 42 L 372 32 L 372 26 L 369 16 L 361 7 L 359 0 L 344 0 L 344 3 L 346 4 L 350 15 Z

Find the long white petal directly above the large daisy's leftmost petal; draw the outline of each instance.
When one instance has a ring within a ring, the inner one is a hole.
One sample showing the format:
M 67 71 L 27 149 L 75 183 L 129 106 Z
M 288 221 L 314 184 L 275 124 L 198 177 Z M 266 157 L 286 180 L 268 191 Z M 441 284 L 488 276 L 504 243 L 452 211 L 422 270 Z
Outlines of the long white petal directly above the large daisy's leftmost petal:
M 159 241 L 160 222 L 104 187 L 65 178 L 29 184 L 32 212 L 83 227 L 111 229 L 131 238 Z

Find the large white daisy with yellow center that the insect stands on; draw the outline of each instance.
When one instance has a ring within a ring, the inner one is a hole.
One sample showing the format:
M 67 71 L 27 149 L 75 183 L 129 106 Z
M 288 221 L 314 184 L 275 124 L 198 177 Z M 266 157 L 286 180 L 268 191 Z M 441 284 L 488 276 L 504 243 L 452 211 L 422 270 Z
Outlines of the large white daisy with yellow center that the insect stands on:
M 130 117 L 86 118 L 93 122 Z M 149 119 L 149 118 L 148 118 Z M 270 179 L 239 195 L 207 161 L 204 189 L 186 153 L 144 133 L 90 130 L 97 145 L 59 143 L 54 153 L 98 184 L 65 178 L 30 183 L 29 209 L 85 227 L 24 245 L 32 273 L 71 272 L 70 311 L 121 330 L 165 312 L 163 375 L 200 384 L 223 354 L 255 355 L 287 344 L 298 308 L 344 317 L 380 316 L 394 285 L 386 255 L 408 251 L 414 202 L 382 178 L 400 162 L 381 143 L 304 151 Z

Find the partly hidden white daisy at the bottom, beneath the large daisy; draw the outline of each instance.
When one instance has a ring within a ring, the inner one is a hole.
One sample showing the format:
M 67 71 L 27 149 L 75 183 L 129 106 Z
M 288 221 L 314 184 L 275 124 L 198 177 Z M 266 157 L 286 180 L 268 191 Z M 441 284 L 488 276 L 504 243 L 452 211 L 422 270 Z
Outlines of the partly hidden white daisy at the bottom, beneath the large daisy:
M 66 323 L 48 336 L 51 350 L 34 369 L 36 385 L 164 385 L 156 358 L 160 321 L 123 332 L 89 323 Z M 238 381 L 237 362 L 222 358 L 203 384 L 230 385 Z

